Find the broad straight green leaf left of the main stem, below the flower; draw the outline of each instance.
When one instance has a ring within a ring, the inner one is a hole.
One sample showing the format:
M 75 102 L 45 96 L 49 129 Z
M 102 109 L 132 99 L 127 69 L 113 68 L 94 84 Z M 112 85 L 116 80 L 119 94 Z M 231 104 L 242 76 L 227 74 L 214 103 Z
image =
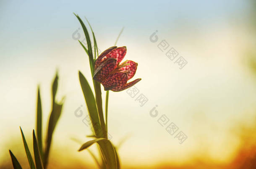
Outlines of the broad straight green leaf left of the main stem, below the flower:
M 79 80 L 80 80 L 82 91 L 84 93 L 84 98 L 85 98 L 87 109 L 91 119 L 92 127 L 94 129 L 94 134 L 97 136 L 97 138 L 99 138 L 102 136 L 102 129 L 100 127 L 99 115 L 97 112 L 97 106 L 95 103 L 94 95 L 91 91 L 91 87 L 89 86 L 88 81 L 80 71 L 79 71 Z

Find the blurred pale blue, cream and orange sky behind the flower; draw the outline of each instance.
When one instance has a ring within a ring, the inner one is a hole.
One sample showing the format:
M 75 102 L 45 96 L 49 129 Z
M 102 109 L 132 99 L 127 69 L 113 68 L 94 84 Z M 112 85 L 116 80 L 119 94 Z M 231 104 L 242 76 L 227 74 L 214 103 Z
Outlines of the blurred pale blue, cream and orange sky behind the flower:
M 97 168 L 73 141 L 84 143 L 91 134 L 78 70 L 92 85 L 73 13 L 88 18 L 100 51 L 113 46 L 124 27 L 117 45 L 127 47 L 124 60 L 138 63 L 137 95 L 110 91 L 108 128 L 111 141 L 123 143 L 122 168 L 256 168 L 255 11 L 254 0 L 1 0 L 0 168 L 12 168 L 9 149 L 29 167 L 19 126 L 32 151 L 37 86 L 46 131 L 56 71 L 57 99 L 66 98 L 49 168 Z M 173 50 L 178 55 L 168 58 Z M 168 132 L 173 124 L 174 134 Z M 97 154 L 95 145 L 90 149 Z

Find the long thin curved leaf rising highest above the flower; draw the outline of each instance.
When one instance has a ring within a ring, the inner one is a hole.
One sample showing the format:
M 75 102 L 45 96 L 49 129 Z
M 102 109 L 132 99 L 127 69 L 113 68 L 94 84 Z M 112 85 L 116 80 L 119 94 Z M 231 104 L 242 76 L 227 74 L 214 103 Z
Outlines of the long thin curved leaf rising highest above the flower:
M 76 14 L 74 13 L 74 15 L 76 15 Z M 91 67 L 91 76 L 93 76 L 94 75 L 94 59 L 93 59 L 93 54 L 92 54 L 92 49 L 91 49 L 91 39 L 90 39 L 88 30 L 87 30 L 86 26 L 84 25 L 83 21 L 81 20 L 81 18 L 78 15 L 76 15 L 76 18 L 79 20 L 79 22 L 81 23 L 81 26 L 84 30 L 84 34 L 85 34 L 86 42 L 87 42 L 90 67 Z

